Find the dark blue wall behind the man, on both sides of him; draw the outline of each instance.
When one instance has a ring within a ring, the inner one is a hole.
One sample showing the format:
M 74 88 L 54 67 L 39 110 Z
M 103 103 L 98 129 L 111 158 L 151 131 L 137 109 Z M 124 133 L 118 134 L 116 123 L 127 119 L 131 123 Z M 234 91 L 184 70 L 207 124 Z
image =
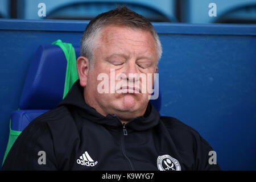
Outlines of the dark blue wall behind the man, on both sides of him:
M 79 44 L 88 22 L 0 20 L 0 163 L 31 57 L 57 39 Z M 154 23 L 164 115 L 193 127 L 222 169 L 256 169 L 256 26 Z

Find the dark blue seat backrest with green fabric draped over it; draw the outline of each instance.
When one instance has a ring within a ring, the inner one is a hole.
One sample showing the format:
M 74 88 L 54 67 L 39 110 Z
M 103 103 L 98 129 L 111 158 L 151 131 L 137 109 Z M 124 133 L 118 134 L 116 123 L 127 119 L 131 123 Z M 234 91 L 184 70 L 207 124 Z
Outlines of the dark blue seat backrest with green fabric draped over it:
M 79 46 L 74 46 L 79 55 Z M 20 109 L 52 109 L 63 98 L 67 60 L 57 45 L 39 46 L 27 73 Z

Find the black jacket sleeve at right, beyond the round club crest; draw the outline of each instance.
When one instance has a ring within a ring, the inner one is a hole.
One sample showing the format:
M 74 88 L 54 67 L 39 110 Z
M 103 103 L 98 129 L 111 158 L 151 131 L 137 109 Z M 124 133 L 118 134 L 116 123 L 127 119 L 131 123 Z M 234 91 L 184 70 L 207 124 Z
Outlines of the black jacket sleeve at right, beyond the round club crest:
M 217 163 L 217 152 L 199 135 L 197 140 L 196 170 L 199 171 L 219 171 Z

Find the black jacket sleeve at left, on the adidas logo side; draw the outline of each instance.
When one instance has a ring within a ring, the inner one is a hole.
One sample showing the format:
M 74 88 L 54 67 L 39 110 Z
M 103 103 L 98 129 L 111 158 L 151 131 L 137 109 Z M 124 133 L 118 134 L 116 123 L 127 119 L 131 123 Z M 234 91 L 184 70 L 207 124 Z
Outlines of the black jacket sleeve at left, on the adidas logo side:
M 52 141 L 46 123 L 32 121 L 16 139 L 2 170 L 56 170 Z

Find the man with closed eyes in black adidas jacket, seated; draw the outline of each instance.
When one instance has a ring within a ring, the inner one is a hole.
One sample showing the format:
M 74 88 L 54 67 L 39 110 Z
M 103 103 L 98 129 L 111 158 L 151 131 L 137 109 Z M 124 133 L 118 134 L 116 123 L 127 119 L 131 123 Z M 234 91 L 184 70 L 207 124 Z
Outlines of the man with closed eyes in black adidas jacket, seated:
M 162 47 L 146 18 L 126 7 L 98 15 L 80 55 L 79 80 L 56 109 L 26 127 L 3 170 L 220 169 L 209 164 L 212 148 L 199 133 L 160 117 L 148 102 Z

